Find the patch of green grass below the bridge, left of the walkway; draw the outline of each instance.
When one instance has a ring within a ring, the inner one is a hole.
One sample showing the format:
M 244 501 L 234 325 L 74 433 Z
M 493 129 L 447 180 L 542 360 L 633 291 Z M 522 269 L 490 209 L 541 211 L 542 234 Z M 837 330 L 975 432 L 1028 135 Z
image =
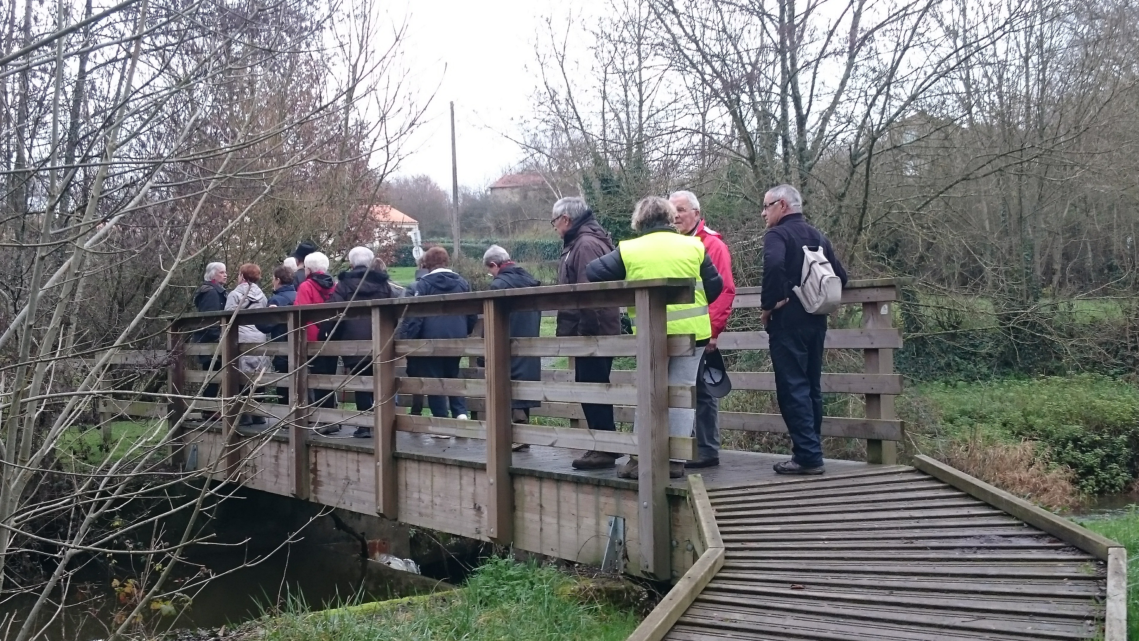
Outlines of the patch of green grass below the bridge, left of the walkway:
M 625 639 L 632 612 L 581 603 L 568 576 L 533 562 L 491 559 L 454 592 L 390 608 L 311 614 L 295 609 L 265 622 L 264 641 L 562 641 Z

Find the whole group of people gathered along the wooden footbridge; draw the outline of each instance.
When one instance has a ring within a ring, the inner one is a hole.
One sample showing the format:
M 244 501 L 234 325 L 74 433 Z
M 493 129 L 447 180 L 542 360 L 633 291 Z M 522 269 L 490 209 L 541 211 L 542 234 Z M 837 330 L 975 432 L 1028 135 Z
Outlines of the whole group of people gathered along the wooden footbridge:
M 820 248 L 830 261 L 843 285 L 846 273 L 834 254 L 829 241 L 818 229 L 806 224 L 802 211 L 802 196 L 790 185 L 769 190 L 763 201 L 762 217 L 768 230 L 763 249 L 763 289 L 761 319 L 770 338 L 772 368 L 776 375 L 777 398 L 784 421 L 793 441 L 793 456 L 775 466 L 787 474 L 819 474 L 823 472 L 821 451 L 822 424 L 822 344 L 827 328 L 825 315 L 809 314 L 793 287 L 802 283 L 800 267 L 805 248 Z M 710 468 L 720 464 L 719 398 L 706 375 L 706 359 L 718 351 L 718 339 L 728 324 L 735 298 L 731 255 L 721 235 L 704 221 L 699 200 L 688 190 L 675 192 L 669 198 L 648 196 L 637 203 L 631 226 L 637 237 L 613 243 L 612 237 L 597 221 L 589 204 L 581 197 L 564 197 L 552 208 L 550 225 L 562 236 L 563 250 L 558 266 L 557 284 L 599 281 L 646 279 L 659 277 L 690 277 L 697 286 L 690 303 L 670 305 L 665 322 L 669 334 L 693 334 L 695 350 L 689 356 L 669 358 L 669 384 L 695 386 L 695 408 L 670 408 L 669 433 L 690 437 L 695 433 L 697 459 L 670 461 L 670 476 L 680 477 L 685 468 Z M 407 287 L 393 283 L 386 266 L 367 248 L 353 248 L 347 253 L 350 268 L 335 279 L 327 273 L 329 259 L 311 243 L 301 243 L 294 254 L 273 269 L 272 295 L 265 297 L 259 283 L 261 268 L 246 263 L 239 268 L 237 285 L 227 292 L 226 266 L 212 262 L 206 267 L 204 283 L 195 294 L 200 311 L 284 307 L 392 298 L 400 295 L 432 295 L 469 292 L 470 284 L 450 269 L 450 255 L 443 248 L 431 248 L 419 259 L 416 279 Z M 491 245 L 483 254 L 483 263 L 493 281 L 491 289 L 532 287 L 542 283 L 515 263 L 499 245 Z M 637 311 L 628 310 L 632 331 L 637 332 Z M 401 339 L 456 339 L 470 335 L 477 322 L 474 315 L 404 317 L 398 330 Z M 541 325 L 539 311 L 510 315 L 510 336 L 536 336 Z M 241 325 L 243 343 L 285 340 L 284 325 Z M 306 327 L 309 341 L 370 340 L 368 319 L 331 319 Z M 557 335 L 598 336 L 622 333 L 618 308 L 563 309 L 557 314 Z M 219 330 L 199 331 L 196 340 L 219 340 Z M 205 367 L 216 367 L 211 357 L 202 357 Z M 313 374 L 333 374 L 338 363 L 336 356 L 316 356 L 310 359 Z M 371 358 L 339 357 L 345 373 L 368 375 Z M 239 367 L 247 372 L 287 371 L 286 357 L 243 356 Z M 574 362 L 577 382 L 608 383 L 613 368 L 612 357 L 579 357 Z M 407 359 L 408 376 L 459 378 L 459 357 L 415 357 Z M 540 380 L 541 362 L 536 357 L 513 357 L 510 374 L 514 380 Z M 310 403 L 335 407 L 333 390 L 316 390 Z M 214 389 L 207 396 L 216 395 Z M 279 393 L 288 403 L 285 393 Z M 357 392 L 357 408 L 368 411 L 374 399 L 370 392 Z M 433 416 L 466 419 L 466 400 L 461 397 L 428 396 Z M 412 413 L 421 413 L 421 400 L 412 399 Z M 513 419 L 518 423 L 530 421 L 530 409 L 538 401 L 515 399 Z M 582 404 L 589 429 L 616 429 L 612 405 Z M 257 416 L 243 416 L 243 422 L 263 421 Z M 323 428 L 322 428 L 323 429 Z M 337 425 L 327 430 L 335 431 Z M 634 430 L 637 425 L 634 425 Z M 358 437 L 370 437 L 368 428 L 360 428 Z M 574 459 L 577 469 L 614 468 L 621 455 L 609 452 L 587 452 Z M 631 456 L 617 469 L 623 478 L 636 478 L 637 459 Z

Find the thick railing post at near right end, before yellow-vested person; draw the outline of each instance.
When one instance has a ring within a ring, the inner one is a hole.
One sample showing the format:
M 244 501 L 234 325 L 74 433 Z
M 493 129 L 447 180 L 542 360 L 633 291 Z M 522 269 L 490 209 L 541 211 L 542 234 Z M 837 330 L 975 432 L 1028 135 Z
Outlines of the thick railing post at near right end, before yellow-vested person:
M 669 342 L 665 298 L 659 289 L 637 290 L 637 429 L 641 570 L 671 577 L 669 538 Z

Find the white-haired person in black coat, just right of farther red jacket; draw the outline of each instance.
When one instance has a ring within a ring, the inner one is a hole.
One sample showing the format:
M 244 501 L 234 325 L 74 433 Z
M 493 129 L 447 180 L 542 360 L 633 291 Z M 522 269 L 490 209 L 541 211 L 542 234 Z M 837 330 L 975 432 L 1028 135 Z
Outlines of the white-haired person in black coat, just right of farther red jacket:
M 349 252 L 349 265 L 352 269 L 341 271 L 337 276 L 336 289 L 328 302 L 347 302 L 352 300 L 372 300 L 392 298 L 392 284 L 387 275 L 387 266 L 384 261 L 376 259 L 368 248 L 352 248 Z M 327 320 L 326 328 L 330 332 L 334 341 L 370 341 L 371 318 L 342 318 Z M 347 374 L 370 376 L 371 357 L 369 356 L 344 356 L 344 371 Z M 375 398 L 370 391 L 355 392 L 357 409 L 368 412 L 375 404 Z M 358 428 L 352 435 L 360 438 L 370 438 L 370 428 Z

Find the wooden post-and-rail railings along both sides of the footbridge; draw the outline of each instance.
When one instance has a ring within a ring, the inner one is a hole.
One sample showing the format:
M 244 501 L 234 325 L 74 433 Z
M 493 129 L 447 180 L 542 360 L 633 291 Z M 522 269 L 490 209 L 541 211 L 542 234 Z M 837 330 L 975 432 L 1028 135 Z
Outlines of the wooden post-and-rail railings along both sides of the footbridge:
M 843 301 L 862 307 L 861 328 L 830 330 L 827 349 L 862 350 L 865 372 L 826 373 L 822 389 L 835 393 L 865 395 L 865 416 L 826 416 L 825 436 L 860 438 L 867 440 L 868 460 L 872 463 L 895 461 L 895 444 L 902 439 L 902 423 L 894 416 L 894 396 L 902 390 L 901 375 L 893 373 L 893 350 L 901 347 L 901 334 L 892 327 L 892 303 L 899 300 L 899 279 L 854 281 L 844 291 Z M 510 422 L 510 399 L 540 401 L 532 415 L 570 419 L 572 424 L 584 424 L 581 403 L 605 403 L 615 407 L 617 422 L 639 425 L 664 425 L 667 407 L 691 407 L 693 388 L 670 387 L 666 378 L 666 358 L 670 355 L 691 354 L 691 336 L 666 336 L 664 307 L 671 302 L 691 300 L 690 281 L 644 281 L 637 283 L 596 283 L 552 287 L 532 287 L 442 297 L 385 299 L 352 303 L 317 305 L 305 307 L 270 308 L 233 313 L 188 314 L 171 325 L 167 355 L 161 350 L 120 352 L 116 363 L 142 365 L 164 362 L 167 367 L 170 405 L 130 400 L 103 400 L 99 411 L 109 417 L 114 414 L 141 416 L 183 416 L 190 411 L 219 411 L 222 413 L 227 443 L 236 443 L 236 430 L 241 412 L 273 416 L 282 421 L 289 432 L 290 492 L 298 498 L 309 498 L 310 439 L 312 423 L 339 423 L 372 428 L 376 464 L 376 511 L 399 518 L 395 508 L 394 453 L 395 432 L 417 432 L 456 436 L 487 441 L 487 481 L 494 490 L 489 501 L 487 514 L 491 537 L 508 543 L 513 533 L 510 520 L 510 464 L 511 443 L 597 449 L 618 454 L 639 454 L 639 503 L 644 524 L 641 538 L 642 570 L 648 574 L 665 573 L 667 567 L 669 525 L 663 505 L 667 484 L 667 460 L 695 457 L 695 441 L 690 438 L 669 437 L 666 430 L 649 430 L 650 438 L 639 439 L 629 432 L 592 431 L 579 428 L 519 425 Z M 655 331 L 620 336 L 562 336 L 507 339 L 511 310 L 550 310 L 568 308 L 626 307 L 636 305 L 638 315 L 645 315 L 645 327 Z M 734 307 L 748 309 L 759 306 L 759 287 L 738 290 Z M 641 311 L 641 310 L 645 311 Z M 481 314 L 484 338 L 449 340 L 395 340 L 394 333 L 403 316 L 432 316 Z M 370 341 L 304 340 L 304 327 L 312 323 L 343 318 L 368 318 L 372 325 Z M 274 324 L 288 326 L 287 341 L 243 344 L 238 343 L 236 326 L 241 324 Z M 219 343 L 190 342 L 197 328 L 216 325 L 222 330 Z M 231 331 L 231 328 L 233 328 Z M 724 350 L 764 350 L 765 332 L 727 332 L 720 336 Z M 224 363 L 221 371 L 200 371 L 197 356 L 214 355 Z M 257 387 L 289 389 L 290 405 L 259 403 L 243 395 L 249 384 L 246 374 L 236 366 L 241 355 L 287 356 L 287 373 L 265 372 L 254 381 Z M 309 374 L 309 363 L 314 356 L 375 356 L 375 376 Z M 402 365 L 403 357 L 416 356 L 482 356 L 486 367 L 464 367 L 458 379 L 409 378 Z M 615 370 L 611 383 L 576 383 L 572 370 L 541 371 L 541 381 L 510 381 L 510 356 L 634 356 L 638 363 L 659 363 L 661 366 L 638 367 L 636 371 Z M 140 360 L 141 359 L 141 360 Z M 736 390 L 775 390 L 771 372 L 732 372 Z M 204 386 L 220 382 L 222 399 L 203 397 Z M 308 390 L 338 390 L 342 392 L 371 391 L 376 398 L 374 412 L 313 407 L 308 404 Z M 410 401 L 409 395 L 466 396 L 470 420 L 411 416 L 396 411 Z M 399 396 L 398 396 L 399 395 Z M 304 403 L 297 403 L 297 400 Z M 169 409 L 169 411 L 167 411 Z M 751 412 L 721 412 L 723 430 L 786 432 L 778 414 Z M 235 463 L 237 449 L 232 449 Z M 666 576 L 665 574 L 657 574 Z

